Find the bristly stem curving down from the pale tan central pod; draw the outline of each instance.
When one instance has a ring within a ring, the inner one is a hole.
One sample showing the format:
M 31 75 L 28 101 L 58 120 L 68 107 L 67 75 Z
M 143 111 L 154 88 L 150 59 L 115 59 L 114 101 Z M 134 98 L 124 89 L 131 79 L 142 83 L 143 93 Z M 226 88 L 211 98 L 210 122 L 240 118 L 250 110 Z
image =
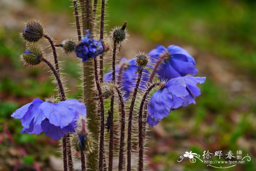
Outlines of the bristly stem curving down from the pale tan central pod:
M 118 163 L 118 170 L 123 170 L 123 163 L 124 163 L 124 134 L 125 134 L 125 110 L 124 110 L 124 100 L 121 94 L 120 88 L 118 85 L 115 87 L 121 108 L 121 134 L 120 134 L 120 147 L 119 147 L 119 163 Z

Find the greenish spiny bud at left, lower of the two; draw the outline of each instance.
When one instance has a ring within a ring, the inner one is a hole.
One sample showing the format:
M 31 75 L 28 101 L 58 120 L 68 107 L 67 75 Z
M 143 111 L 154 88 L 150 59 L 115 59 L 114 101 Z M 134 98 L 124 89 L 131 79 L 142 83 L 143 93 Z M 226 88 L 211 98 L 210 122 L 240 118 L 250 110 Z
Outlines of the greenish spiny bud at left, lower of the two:
M 27 46 L 24 54 L 22 54 L 22 60 L 29 65 L 38 65 L 42 61 L 43 57 L 44 53 L 40 47 L 33 45 Z

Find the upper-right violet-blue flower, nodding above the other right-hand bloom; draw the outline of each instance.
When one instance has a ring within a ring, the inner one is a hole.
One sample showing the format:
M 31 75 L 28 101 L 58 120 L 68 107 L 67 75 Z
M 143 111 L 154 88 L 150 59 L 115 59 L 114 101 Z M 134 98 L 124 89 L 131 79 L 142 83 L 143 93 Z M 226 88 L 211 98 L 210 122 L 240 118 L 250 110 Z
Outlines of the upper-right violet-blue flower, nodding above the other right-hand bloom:
M 198 72 L 194 58 L 179 46 L 170 45 L 165 48 L 159 45 L 156 49 L 151 50 L 148 55 L 154 64 L 157 63 L 161 56 L 165 56 L 157 68 L 159 79 L 169 80 L 187 74 L 196 75 Z

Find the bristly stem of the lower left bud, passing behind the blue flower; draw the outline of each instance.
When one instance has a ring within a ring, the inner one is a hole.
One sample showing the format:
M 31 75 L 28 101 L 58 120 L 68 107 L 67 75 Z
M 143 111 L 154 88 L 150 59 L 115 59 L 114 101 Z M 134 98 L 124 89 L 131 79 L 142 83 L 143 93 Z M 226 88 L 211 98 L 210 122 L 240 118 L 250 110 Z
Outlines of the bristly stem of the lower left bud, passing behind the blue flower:
M 57 73 L 57 71 L 54 69 L 54 67 L 52 66 L 52 64 L 48 60 L 46 60 L 45 58 L 42 58 L 42 61 L 44 61 L 50 67 L 50 69 L 52 70 L 54 76 L 56 77 L 57 83 L 59 85 L 60 98 L 61 98 L 61 101 L 64 101 L 65 100 L 65 92 L 64 92 L 64 89 L 63 89 L 63 86 L 62 86 L 59 74 Z M 69 135 L 67 135 L 67 134 L 65 134 L 63 136 L 63 139 L 62 139 L 64 171 L 68 171 L 68 159 L 67 159 L 67 155 L 68 155 L 67 154 L 67 150 L 68 149 L 67 149 L 67 144 L 69 144 L 69 140 L 68 140 L 67 136 L 69 136 Z M 71 161 L 72 161 L 72 158 L 71 158 Z M 73 166 L 72 166 L 72 168 L 73 168 Z

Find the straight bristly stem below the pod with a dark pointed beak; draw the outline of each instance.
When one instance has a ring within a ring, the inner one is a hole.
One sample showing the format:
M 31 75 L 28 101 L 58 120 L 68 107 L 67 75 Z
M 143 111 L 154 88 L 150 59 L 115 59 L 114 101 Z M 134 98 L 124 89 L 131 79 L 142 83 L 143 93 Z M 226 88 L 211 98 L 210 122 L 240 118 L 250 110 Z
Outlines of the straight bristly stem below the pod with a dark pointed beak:
M 112 83 L 116 82 L 116 47 L 117 43 L 114 41 L 113 58 L 112 58 Z M 110 102 L 110 135 L 109 135 L 109 171 L 112 171 L 113 167 L 113 116 L 114 116 L 114 96 L 111 96 Z

